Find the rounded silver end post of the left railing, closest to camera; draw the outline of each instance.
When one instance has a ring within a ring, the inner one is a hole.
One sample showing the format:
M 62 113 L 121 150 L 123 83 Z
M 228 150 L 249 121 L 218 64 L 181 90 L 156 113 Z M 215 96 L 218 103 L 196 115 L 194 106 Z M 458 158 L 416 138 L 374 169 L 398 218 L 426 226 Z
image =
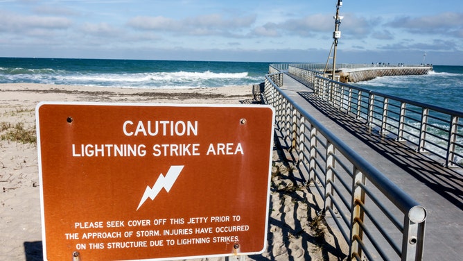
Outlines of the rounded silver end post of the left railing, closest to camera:
M 403 221 L 402 261 L 423 259 L 426 210 L 417 205 L 405 213 Z

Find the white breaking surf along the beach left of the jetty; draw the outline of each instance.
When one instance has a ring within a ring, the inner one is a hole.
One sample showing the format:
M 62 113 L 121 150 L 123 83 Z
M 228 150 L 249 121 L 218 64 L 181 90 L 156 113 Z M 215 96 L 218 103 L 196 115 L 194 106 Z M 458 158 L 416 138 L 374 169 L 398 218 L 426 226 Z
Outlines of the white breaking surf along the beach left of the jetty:
M 53 69 L 1 68 L 0 83 L 44 83 L 107 87 L 220 87 L 261 81 L 248 72 L 173 71 L 103 73 Z

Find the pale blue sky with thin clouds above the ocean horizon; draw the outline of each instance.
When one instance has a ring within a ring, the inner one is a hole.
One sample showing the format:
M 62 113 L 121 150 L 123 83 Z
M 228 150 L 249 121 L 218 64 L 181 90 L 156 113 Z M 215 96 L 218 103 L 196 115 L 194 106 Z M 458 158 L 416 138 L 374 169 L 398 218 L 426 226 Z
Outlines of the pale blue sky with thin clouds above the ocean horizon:
M 0 56 L 326 62 L 337 0 L 0 0 Z M 463 65 L 463 4 L 344 0 L 338 62 Z

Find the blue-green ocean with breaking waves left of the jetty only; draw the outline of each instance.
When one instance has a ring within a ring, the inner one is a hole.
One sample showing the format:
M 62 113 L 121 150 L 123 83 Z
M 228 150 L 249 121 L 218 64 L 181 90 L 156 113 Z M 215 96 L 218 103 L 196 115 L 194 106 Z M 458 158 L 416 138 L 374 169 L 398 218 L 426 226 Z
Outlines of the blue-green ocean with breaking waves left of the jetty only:
M 0 83 L 195 88 L 264 81 L 268 62 L 0 58 Z

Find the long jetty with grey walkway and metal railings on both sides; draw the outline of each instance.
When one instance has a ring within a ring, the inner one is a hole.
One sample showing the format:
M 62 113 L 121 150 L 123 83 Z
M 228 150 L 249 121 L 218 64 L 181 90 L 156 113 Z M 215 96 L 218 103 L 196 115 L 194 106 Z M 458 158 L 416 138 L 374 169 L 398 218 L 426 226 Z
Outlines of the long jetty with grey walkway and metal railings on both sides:
M 463 112 L 333 81 L 318 66 L 270 65 L 260 99 L 275 108 L 292 176 L 337 235 L 324 249 L 460 260 Z

